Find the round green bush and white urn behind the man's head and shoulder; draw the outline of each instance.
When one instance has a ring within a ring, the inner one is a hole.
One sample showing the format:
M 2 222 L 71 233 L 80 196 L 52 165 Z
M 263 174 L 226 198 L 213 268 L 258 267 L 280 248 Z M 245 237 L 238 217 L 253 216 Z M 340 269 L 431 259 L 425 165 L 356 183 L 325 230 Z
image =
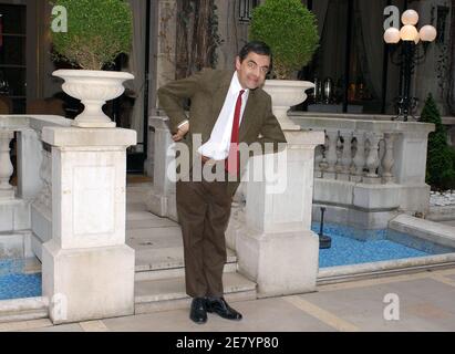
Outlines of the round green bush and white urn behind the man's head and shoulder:
M 273 54 L 271 77 L 263 90 L 272 96 L 273 113 L 282 128 L 298 128 L 288 118 L 290 106 L 307 98 L 308 81 L 291 80 L 307 65 L 319 45 L 314 14 L 300 0 L 266 0 L 252 10 L 251 40 L 263 41 Z

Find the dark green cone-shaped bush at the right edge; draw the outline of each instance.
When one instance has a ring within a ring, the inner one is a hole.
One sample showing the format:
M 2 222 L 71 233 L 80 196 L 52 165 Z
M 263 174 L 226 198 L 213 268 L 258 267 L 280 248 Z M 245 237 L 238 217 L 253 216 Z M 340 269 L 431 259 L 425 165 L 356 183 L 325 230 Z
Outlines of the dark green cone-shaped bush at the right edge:
M 455 150 L 447 144 L 447 133 L 432 94 L 425 101 L 420 121 L 436 126 L 428 135 L 426 183 L 432 190 L 455 188 Z

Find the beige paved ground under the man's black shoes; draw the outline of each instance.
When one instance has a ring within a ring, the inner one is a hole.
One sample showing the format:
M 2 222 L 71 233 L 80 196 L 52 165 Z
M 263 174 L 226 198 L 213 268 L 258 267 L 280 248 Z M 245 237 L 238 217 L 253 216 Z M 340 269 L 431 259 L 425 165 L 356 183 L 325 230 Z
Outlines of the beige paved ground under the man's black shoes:
M 187 310 L 53 326 L 49 320 L 2 323 L 33 332 L 356 332 L 455 331 L 455 268 L 319 287 L 318 292 L 231 305 L 240 322 L 209 314 L 196 325 Z

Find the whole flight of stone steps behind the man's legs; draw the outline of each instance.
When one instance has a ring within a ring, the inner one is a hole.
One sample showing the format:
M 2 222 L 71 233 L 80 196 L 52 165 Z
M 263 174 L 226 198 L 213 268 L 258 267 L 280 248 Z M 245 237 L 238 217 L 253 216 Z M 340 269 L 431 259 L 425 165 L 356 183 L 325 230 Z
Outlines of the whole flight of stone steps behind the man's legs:
M 189 308 L 180 228 L 146 211 L 144 198 L 149 187 L 127 187 L 126 243 L 136 252 L 135 312 Z M 228 301 L 256 299 L 256 283 L 237 273 L 237 257 L 231 250 L 223 280 Z

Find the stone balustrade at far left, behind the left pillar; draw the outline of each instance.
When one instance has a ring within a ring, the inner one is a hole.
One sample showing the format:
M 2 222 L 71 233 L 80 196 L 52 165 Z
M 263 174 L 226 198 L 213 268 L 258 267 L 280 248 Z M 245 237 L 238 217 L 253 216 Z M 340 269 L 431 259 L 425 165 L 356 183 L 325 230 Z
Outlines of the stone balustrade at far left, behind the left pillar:
M 41 243 L 52 236 L 52 163 L 41 132 L 44 126 L 69 126 L 70 123 L 60 116 L 0 116 L 0 231 L 32 230 L 31 243 L 39 258 Z M 13 174 L 10 145 L 14 136 L 15 187 L 9 183 Z

